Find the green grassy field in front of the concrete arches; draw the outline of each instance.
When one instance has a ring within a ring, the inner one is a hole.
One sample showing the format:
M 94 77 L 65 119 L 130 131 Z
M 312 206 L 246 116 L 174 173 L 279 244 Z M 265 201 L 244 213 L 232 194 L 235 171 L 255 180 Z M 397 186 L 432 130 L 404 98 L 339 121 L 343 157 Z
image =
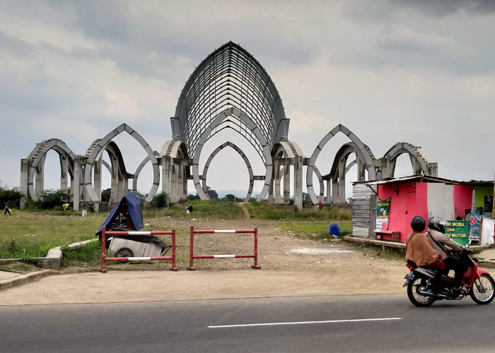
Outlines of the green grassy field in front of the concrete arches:
M 194 218 L 197 220 L 238 220 L 245 218 L 243 209 L 228 202 L 192 201 L 187 203 L 194 209 Z M 264 220 L 279 220 L 279 228 L 292 230 L 297 234 L 312 238 L 328 237 L 329 222 L 339 221 L 340 235 L 351 233 L 351 213 L 337 208 L 312 208 L 293 213 L 274 207 L 268 203 L 250 203 L 245 205 L 250 217 Z M 161 210 L 143 210 L 144 229 L 163 227 L 163 220 L 177 219 L 185 214 L 185 205 L 177 204 Z M 64 248 L 77 241 L 95 239 L 107 214 L 88 213 L 81 217 L 81 213 L 74 210 L 66 213 L 57 211 L 28 211 L 13 210 L 11 216 L 0 217 L 0 258 L 22 258 L 26 261 L 32 258 L 43 257 L 55 247 L 62 246 L 64 251 L 62 266 L 95 265 L 100 263 L 100 244 L 91 243 L 85 249 L 69 251 Z M 175 229 L 177 234 L 189 232 L 187 227 Z M 186 237 L 183 237 L 186 239 Z M 178 238 L 177 238 L 178 239 Z M 182 239 L 182 241 L 186 241 Z M 177 244 L 177 246 L 187 244 Z M 184 262 L 186 259 L 177 258 Z

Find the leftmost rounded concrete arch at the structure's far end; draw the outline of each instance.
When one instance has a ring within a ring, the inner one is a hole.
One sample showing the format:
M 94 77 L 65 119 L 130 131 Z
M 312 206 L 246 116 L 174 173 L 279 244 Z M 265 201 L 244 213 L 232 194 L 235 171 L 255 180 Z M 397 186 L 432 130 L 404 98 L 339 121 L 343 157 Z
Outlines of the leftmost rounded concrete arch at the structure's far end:
M 61 170 L 61 186 L 60 189 L 67 189 L 69 186 L 68 174 L 74 180 L 74 152 L 64 143 L 64 141 L 58 138 L 52 138 L 50 140 L 43 140 L 41 143 L 37 143 L 36 147 L 28 156 L 27 160 L 28 168 L 28 186 L 27 191 L 33 201 L 38 201 L 38 198 L 43 194 L 44 175 L 43 168 L 45 165 L 45 158 L 50 150 L 54 150 L 59 155 L 60 170 Z M 36 179 L 36 188 L 34 185 Z

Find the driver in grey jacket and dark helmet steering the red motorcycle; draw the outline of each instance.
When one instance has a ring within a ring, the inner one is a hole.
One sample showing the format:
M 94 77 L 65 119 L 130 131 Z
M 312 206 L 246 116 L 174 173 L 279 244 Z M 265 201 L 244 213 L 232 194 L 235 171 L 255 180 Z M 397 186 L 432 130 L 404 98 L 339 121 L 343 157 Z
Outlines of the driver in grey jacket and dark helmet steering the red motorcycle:
M 461 280 L 462 275 L 467 271 L 467 265 L 457 258 L 453 258 L 450 251 L 445 247 L 456 251 L 465 251 L 472 253 L 472 250 L 462 246 L 445 235 L 445 220 L 442 217 L 430 217 L 428 220 L 428 232 L 425 233 L 426 239 L 433 247 L 433 249 L 444 258 L 445 273 L 449 270 L 454 270 L 454 287 L 455 291 L 462 289 Z

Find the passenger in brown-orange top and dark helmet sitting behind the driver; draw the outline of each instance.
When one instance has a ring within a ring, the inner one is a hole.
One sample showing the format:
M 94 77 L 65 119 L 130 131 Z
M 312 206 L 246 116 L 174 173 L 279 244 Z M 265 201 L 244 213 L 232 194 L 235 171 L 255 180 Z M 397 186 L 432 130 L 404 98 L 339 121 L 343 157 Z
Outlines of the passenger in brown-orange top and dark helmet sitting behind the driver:
M 406 242 L 406 260 L 416 266 L 433 268 L 437 270 L 433 292 L 440 292 L 441 277 L 445 270 L 445 263 L 442 262 L 442 256 L 433 249 L 426 236 L 422 233 L 426 228 L 426 222 L 423 217 L 416 216 L 411 220 L 412 232 L 407 236 Z

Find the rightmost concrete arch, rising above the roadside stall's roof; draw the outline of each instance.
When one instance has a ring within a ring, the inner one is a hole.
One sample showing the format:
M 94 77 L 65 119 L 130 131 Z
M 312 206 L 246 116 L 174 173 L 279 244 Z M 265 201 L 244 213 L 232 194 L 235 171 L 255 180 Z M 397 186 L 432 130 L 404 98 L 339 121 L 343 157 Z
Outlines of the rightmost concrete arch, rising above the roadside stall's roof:
M 437 164 L 430 163 L 426 160 L 421 147 L 407 142 L 399 142 L 395 143 L 395 145 L 393 145 L 387 152 L 385 152 L 385 155 L 383 155 L 383 158 L 388 160 L 388 168 L 382 169 L 382 178 L 394 177 L 397 157 L 403 154 L 409 155 L 413 175 L 422 173 L 424 175 L 432 175 L 436 177 Z

